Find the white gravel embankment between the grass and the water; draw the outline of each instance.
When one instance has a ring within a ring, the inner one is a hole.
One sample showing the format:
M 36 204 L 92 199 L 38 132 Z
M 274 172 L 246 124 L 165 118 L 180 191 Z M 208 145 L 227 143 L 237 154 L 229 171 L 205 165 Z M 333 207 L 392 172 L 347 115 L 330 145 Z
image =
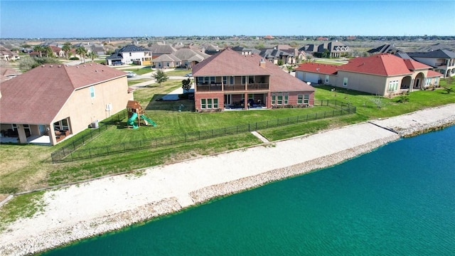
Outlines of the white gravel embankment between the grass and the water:
M 28 255 L 119 230 L 453 124 L 455 105 L 446 105 L 46 191 L 43 211 L 0 233 L 0 255 Z

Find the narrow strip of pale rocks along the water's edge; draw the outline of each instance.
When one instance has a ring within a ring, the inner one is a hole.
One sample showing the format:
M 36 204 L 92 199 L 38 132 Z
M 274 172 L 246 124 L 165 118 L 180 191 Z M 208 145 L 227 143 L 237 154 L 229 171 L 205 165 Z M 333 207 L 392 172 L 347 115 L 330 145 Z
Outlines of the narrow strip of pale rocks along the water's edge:
M 304 163 L 288 166 L 282 169 L 267 171 L 256 176 L 240 178 L 236 181 L 208 186 L 190 193 L 191 199 L 193 200 L 193 206 L 205 203 L 213 198 L 228 196 L 233 193 L 239 193 L 247 189 L 262 186 L 269 182 L 279 181 L 284 178 L 298 176 L 310 171 L 316 171 L 328 166 L 333 166 L 341 163 L 342 161 L 368 153 L 397 139 L 399 139 L 398 136 L 391 135 L 385 139 L 378 139 L 374 142 L 370 142 L 353 149 L 341 151 L 336 154 L 323 156 L 319 159 L 306 161 Z M 158 202 L 149 203 L 145 206 L 124 211 L 122 213 L 82 221 L 77 223 L 77 225 L 68 228 L 51 230 L 50 232 L 42 233 L 34 238 L 11 243 L 10 245 L 0 247 L 0 252 L 1 255 L 30 255 L 37 252 L 43 252 L 55 247 L 67 245 L 70 242 L 119 230 L 134 223 L 151 220 L 161 215 L 176 213 L 183 209 L 184 208 L 178 203 L 177 198 L 166 198 Z

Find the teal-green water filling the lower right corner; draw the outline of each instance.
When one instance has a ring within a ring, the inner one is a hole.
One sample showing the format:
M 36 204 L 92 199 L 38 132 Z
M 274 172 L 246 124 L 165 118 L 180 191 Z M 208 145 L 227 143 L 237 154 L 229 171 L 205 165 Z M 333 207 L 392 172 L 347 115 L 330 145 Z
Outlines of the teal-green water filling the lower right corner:
M 45 255 L 455 255 L 455 127 Z

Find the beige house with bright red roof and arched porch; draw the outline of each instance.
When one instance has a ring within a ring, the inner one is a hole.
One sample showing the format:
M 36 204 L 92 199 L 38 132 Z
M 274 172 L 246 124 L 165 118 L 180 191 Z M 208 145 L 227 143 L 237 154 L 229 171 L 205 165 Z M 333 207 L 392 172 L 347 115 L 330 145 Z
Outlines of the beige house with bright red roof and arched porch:
M 339 66 L 304 63 L 296 68 L 296 77 L 305 82 L 385 96 L 439 85 L 442 75 L 431 69 L 412 59 L 381 53 L 353 58 Z

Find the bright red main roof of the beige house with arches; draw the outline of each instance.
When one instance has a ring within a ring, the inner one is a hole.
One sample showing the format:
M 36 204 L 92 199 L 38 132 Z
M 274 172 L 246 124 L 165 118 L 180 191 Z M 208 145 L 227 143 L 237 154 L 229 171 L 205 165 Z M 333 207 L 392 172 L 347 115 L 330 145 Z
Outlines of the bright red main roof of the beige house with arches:
M 402 58 L 390 53 L 353 58 L 349 63 L 339 66 L 338 70 L 385 76 L 412 74 Z

